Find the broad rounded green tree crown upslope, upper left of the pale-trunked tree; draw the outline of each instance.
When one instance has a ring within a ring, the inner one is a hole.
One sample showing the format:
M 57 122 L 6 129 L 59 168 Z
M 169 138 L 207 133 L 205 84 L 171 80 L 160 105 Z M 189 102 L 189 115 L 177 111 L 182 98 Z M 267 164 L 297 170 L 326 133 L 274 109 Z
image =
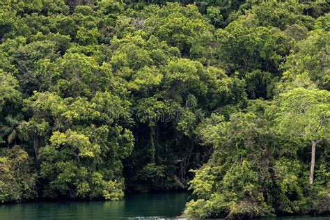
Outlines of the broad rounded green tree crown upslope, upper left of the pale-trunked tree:
M 220 61 L 232 73 L 256 69 L 276 73 L 287 52 L 285 36 L 278 29 L 244 22 L 246 17 L 215 33 Z

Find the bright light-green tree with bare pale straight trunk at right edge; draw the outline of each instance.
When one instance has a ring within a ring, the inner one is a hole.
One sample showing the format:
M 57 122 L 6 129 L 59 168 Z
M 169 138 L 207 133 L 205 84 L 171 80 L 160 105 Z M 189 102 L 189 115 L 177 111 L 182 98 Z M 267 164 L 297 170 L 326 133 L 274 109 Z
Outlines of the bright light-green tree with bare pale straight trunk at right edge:
M 278 97 L 278 131 L 311 141 L 309 182 L 314 181 L 315 150 L 330 135 L 330 92 L 294 88 Z

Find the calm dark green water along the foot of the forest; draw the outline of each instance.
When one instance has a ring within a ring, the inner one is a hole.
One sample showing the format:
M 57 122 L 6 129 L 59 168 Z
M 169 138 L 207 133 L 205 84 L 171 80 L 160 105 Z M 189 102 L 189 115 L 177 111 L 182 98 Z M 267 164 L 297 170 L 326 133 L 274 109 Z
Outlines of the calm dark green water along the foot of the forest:
M 122 201 L 8 204 L 0 205 L 0 219 L 175 219 L 184 210 L 188 199 L 189 193 L 181 192 L 132 194 Z M 271 219 L 330 220 L 329 217 L 267 218 Z

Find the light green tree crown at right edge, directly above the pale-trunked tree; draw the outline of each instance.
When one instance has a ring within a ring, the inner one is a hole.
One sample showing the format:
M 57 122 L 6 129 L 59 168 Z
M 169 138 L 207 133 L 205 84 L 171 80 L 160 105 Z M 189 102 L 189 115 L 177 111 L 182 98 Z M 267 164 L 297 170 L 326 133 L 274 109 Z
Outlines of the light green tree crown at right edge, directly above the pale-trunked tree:
M 305 40 L 297 43 L 283 64 L 285 91 L 296 87 L 330 88 L 330 33 L 322 29 L 311 32 Z M 303 80 L 304 79 L 304 80 Z M 300 83 L 299 83 L 300 82 Z

